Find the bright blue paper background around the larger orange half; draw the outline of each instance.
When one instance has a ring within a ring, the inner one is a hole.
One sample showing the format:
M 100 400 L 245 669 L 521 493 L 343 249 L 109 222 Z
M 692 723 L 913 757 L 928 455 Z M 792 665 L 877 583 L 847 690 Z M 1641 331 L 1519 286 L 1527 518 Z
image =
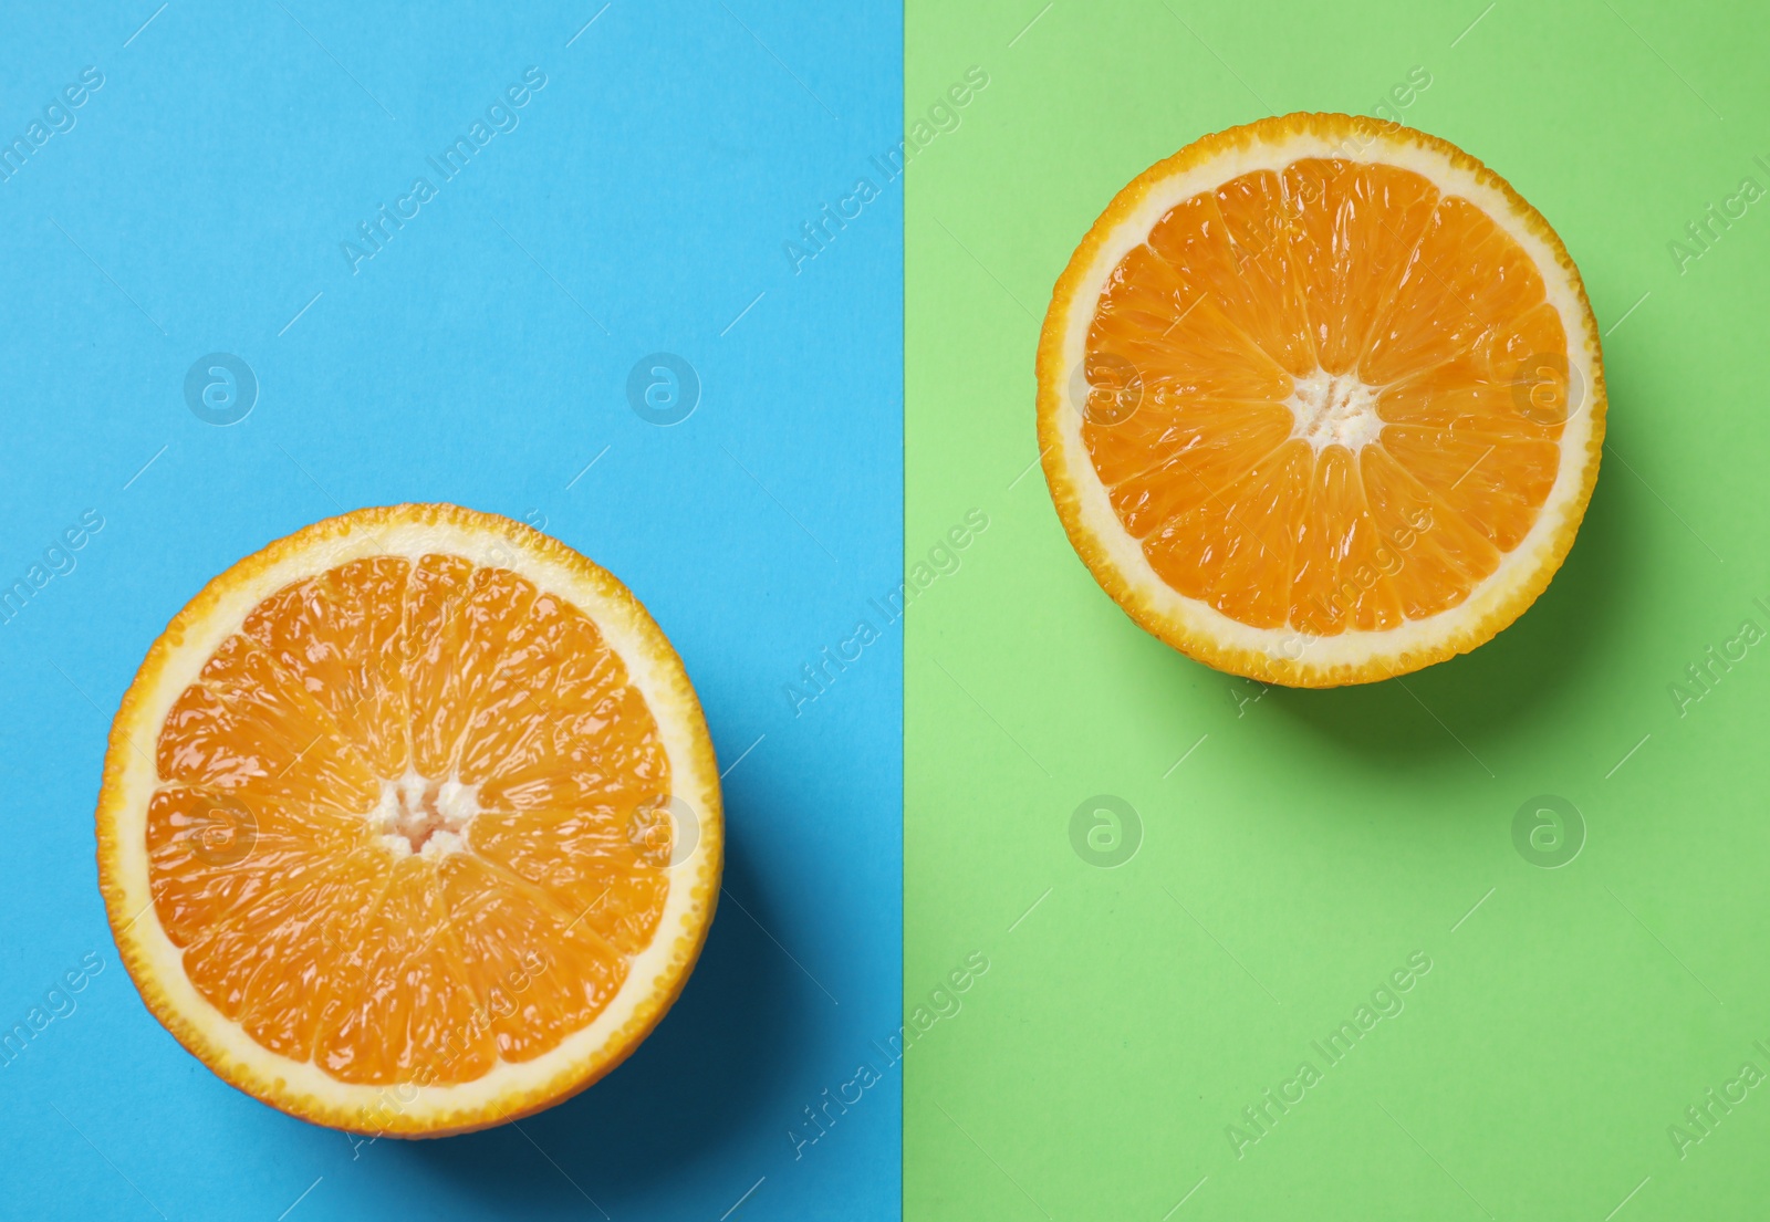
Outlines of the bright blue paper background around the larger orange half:
M 901 1070 L 788 1134 L 901 1013 L 901 631 L 867 603 L 901 557 L 903 196 L 869 163 L 901 134 L 901 16 L 598 4 L 0 14 L 0 143 L 104 78 L 0 182 L 0 585 L 104 522 L 0 624 L 0 1029 L 103 962 L 0 1068 L 12 1217 L 719 1218 L 750 1188 L 733 1218 L 897 1217 Z M 442 182 L 427 156 L 531 65 L 519 126 Z M 419 175 L 435 198 L 352 271 L 340 244 Z M 795 271 L 784 242 L 860 177 L 878 198 Z M 211 352 L 260 384 L 232 426 L 186 405 Z M 628 407 L 651 352 L 703 384 L 669 428 Z M 92 808 L 166 619 L 267 541 L 398 500 L 611 568 L 720 764 L 749 755 L 701 966 L 632 1061 L 522 1132 L 354 1146 L 145 1012 Z M 784 686 L 862 617 L 883 638 L 795 713 Z

